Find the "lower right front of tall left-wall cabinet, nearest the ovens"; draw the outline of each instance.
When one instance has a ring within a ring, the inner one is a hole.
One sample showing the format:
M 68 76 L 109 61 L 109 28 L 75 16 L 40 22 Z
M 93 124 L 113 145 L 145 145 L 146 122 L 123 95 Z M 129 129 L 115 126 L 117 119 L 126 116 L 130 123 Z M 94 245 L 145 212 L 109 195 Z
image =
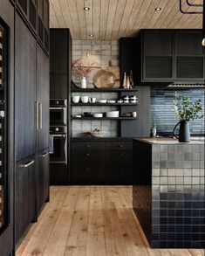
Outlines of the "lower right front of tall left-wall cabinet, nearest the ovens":
M 49 149 L 38 153 L 37 170 L 37 211 L 49 200 Z

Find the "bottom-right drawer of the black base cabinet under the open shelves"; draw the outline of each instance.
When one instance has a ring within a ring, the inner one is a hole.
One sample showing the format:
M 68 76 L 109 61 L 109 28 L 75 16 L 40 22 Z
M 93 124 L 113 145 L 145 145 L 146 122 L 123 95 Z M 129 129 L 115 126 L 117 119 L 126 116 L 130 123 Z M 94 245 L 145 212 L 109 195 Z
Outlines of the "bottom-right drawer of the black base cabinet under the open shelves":
M 104 177 L 105 179 L 114 180 L 132 180 L 133 167 L 132 165 L 105 165 Z

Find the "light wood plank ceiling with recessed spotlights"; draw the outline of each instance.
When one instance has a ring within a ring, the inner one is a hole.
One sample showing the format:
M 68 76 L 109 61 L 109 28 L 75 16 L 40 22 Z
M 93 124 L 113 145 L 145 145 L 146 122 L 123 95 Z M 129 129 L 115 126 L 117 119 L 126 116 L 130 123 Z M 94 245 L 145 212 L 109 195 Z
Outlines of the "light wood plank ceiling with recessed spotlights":
M 202 14 L 181 14 L 180 0 L 50 0 L 51 28 L 70 28 L 73 39 L 132 37 L 146 28 L 202 28 Z M 201 3 L 202 0 L 189 0 Z M 183 10 L 200 10 L 182 0 Z M 84 7 L 90 10 L 85 11 Z M 156 7 L 161 7 L 156 11 Z

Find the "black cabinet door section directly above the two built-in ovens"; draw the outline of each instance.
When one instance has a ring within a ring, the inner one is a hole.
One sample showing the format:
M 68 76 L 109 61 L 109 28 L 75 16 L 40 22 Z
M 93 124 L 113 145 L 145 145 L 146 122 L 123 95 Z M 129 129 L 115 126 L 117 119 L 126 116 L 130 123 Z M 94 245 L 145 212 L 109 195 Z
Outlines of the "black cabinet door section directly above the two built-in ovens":
M 50 30 L 50 98 L 67 99 L 72 81 L 72 38 L 69 29 Z

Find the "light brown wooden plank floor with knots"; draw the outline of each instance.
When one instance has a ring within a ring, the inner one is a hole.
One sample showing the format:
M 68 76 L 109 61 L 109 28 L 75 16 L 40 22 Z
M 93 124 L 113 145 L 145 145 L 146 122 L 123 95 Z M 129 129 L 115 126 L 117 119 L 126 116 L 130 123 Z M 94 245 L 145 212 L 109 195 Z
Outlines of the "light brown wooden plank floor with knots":
M 204 256 L 204 251 L 151 249 L 133 214 L 131 186 L 57 186 L 17 248 L 17 256 L 28 255 Z

